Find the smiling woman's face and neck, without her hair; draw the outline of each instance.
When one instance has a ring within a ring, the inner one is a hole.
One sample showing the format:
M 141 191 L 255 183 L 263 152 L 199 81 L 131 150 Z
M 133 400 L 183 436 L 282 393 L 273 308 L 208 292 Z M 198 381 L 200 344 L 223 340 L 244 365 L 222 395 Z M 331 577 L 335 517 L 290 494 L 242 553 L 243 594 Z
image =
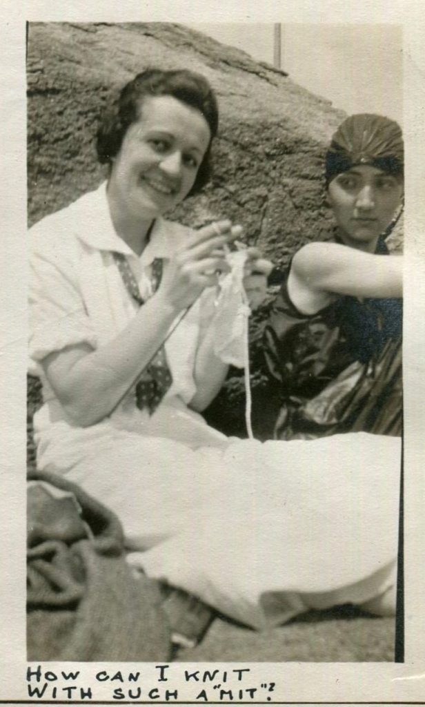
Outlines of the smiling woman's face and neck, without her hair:
M 208 124 L 196 108 L 171 95 L 143 101 L 140 118 L 112 158 L 108 182 L 116 232 L 139 255 L 143 225 L 149 226 L 191 191 L 210 139 Z

